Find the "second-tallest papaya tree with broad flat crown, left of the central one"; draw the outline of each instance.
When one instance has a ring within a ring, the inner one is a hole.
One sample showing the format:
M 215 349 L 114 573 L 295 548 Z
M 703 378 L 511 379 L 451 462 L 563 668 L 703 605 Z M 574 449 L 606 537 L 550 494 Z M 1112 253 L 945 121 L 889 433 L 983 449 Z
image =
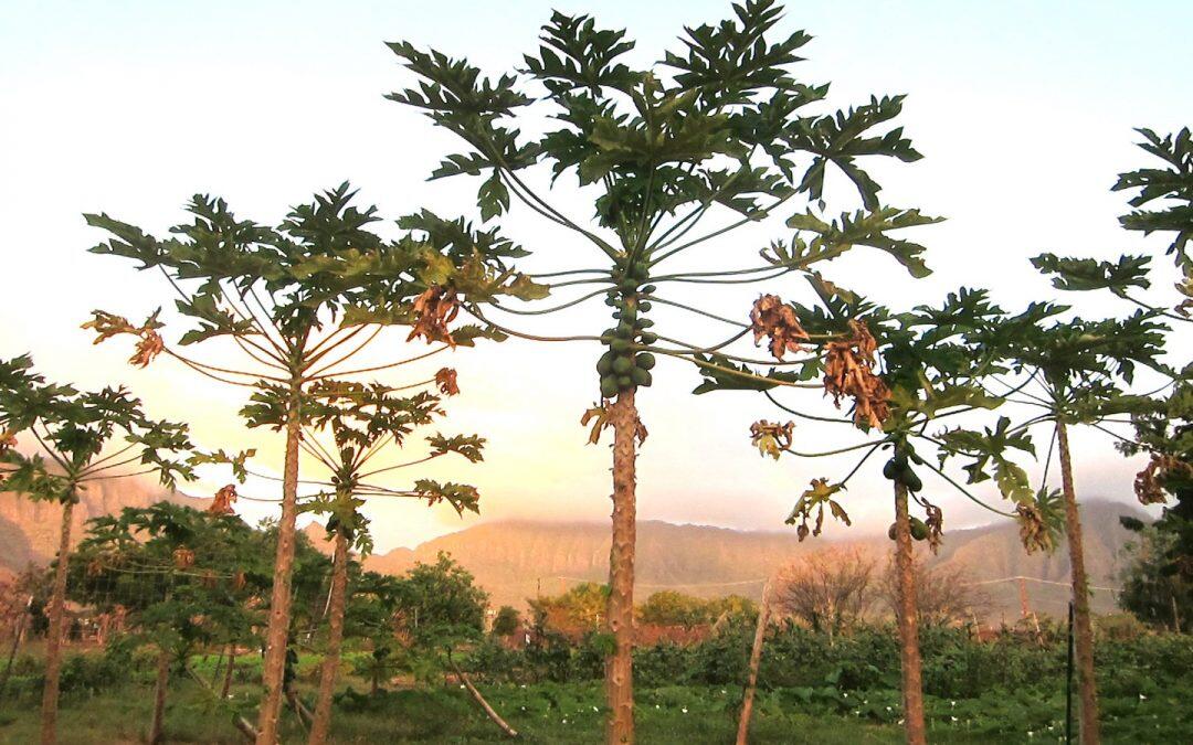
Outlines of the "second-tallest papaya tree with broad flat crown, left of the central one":
M 98 310 L 86 324 L 97 331 L 97 343 L 132 335 L 140 340 L 134 364 L 144 366 L 165 354 L 208 379 L 284 392 L 285 416 L 274 424 L 285 432 L 285 460 L 258 727 L 262 745 L 278 739 L 301 432 L 309 421 L 303 392 L 333 375 L 401 364 L 353 367 L 353 360 L 388 325 L 410 325 L 412 339 L 422 336 L 433 343 L 432 350 L 419 355 L 427 358 L 481 336 L 496 337 L 476 325 L 449 329 L 460 302 L 483 304 L 499 296 L 538 292 L 508 266 L 521 255 L 508 241 L 455 240 L 456 234 L 475 236 L 463 222 L 427 223 L 419 216 L 407 218 L 410 231 L 387 240 L 371 230 L 381 221 L 377 209 L 359 209 L 353 197 L 344 184 L 268 226 L 239 219 L 223 199 L 200 194 L 187 205 L 192 222 L 172 228 L 168 238 L 106 215 L 86 216 L 88 224 L 112 236 L 92 252 L 134 259 L 141 269 L 161 272 L 178 294 L 177 325 L 184 329 L 177 342 L 167 343 L 159 333 L 165 324 L 157 312 L 136 325 Z M 214 364 L 191 353 L 217 340 L 242 355 L 241 366 Z

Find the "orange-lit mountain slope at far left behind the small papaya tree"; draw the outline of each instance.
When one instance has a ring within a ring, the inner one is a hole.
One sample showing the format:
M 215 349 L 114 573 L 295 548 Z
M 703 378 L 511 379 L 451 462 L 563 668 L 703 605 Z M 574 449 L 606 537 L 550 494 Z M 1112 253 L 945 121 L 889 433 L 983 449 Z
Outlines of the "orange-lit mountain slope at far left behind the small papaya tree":
M 85 524 L 92 517 L 115 515 L 125 507 L 149 507 L 157 502 L 206 509 L 211 499 L 188 497 L 138 479 L 92 482 L 81 492 L 70 515 L 70 545 L 84 538 Z M 62 505 L 33 502 L 11 491 L 0 491 L 0 573 L 18 572 L 29 564 L 44 566 L 58 551 L 62 530 Z

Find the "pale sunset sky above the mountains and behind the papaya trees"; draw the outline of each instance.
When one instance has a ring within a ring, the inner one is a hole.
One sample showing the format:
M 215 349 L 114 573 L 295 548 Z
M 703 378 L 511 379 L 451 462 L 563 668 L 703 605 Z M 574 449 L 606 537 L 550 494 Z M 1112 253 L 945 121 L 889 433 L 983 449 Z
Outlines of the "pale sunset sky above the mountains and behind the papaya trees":
M 258 447 L 255 467 L 278 473 L 279 437 L 246 432 L 236 416 L 242 390 L 165 360 L 132 370 L 126 346 L 91 346 L 79 324 L 92 309 L 135 318 L 171 298 L 159 278 L 138 274 L 131 262 L 86 253 L 101 235 L 81 213 L 107 212 L 160 234 L 183 222 L 191 194 L 212 193 L 242 217 L 277 223 L 290 205 L 345 180 L 387 218 L 422 207 L 469 213 L 475 182 L 426 181 L 441 156 L 457 151 L 452 138 L 382 98 L 412 82 L 383 42 L 406 39 L 503 72 L 537 48 L 538 27 L 552 7 L 591 6 L 0 4 L 0 358 L 30 352 L 52 379 L 88 387 L 126 384 L 155 416 L 190 422 L 203 445 Z M 730 12 L 727 2 L 706 1 L 599 7 L 602 25 L 625 27 L 638 42 L 633 54 L 643 63 L 676 49 L 684 25 Z M 913 281 L 892 262 L 863 256 L 834 262 L 830 279 L 898 306 L 937 302 L 958 286 L 985 286 L 999 303 L 1019 308 L 1059 299 L 1027 263 L 1040 250 L 1111 257 L 1162 246 L 1118 228 L 1125 197 L 1109 186 L 1115 174 L 1146 162 L 1132 128 L 1167 132 L 1193 123 L 1187 39 L 1193 5 L 792 2 L 783 26 L 815 37 L 797 72 L 810 82 L 832 81 L 834 107 L 865 103 L 871 94 L 908 94 L 900 123 L 925 159 L 876 168 L 883 195 L 889 204 L 947 218 L 916 235 L 929 249 L 932 278 Z M 591 206 L 564 180 L 551 199 L 569 215 L 589 215 Z M 589 247 L 524 210 L 511 213 L 505 231 L 532 250 L 570 243 L 568 250 L 588 252 L 598 266 Z M 748 261 L 774 237 L 785 237 L 775 224 L 735 236 L 693 252 L 687 266 L 723 267 L 729 249 Z M 550 257 L 561 255 L 542 252 L 527 267 L 570 268 L 580 261 L 568 255 L 563 265 L 552 263 Z M 792 286 L 798 280 L 787 281 L 767 290 L 798 293 Z M 756 292 L 698 298 L 742 316 Z M 1129 312 L 1104 298 L 1064 300 L 1089 317 Z M 523 328 L 598 333 L 606 310 L 589 305 Z M 662 312 L 659 319 L 692 339 L 712 339 L 705 325 Z M 403 339 L 383 335 L 370 359 L 404 356 L 410 349 Z M 413 546 L 477 520 L 607 517 L 608 451 L 586 445 L 587 429 L 579 423 L 596 396 L 598 354 L 591 346 L 523 341 L 452 353 L 449 362 L 459 371 L 463 393 L 449 402 L 443 430 L 486 436 L 486 461 L 441 459 L 418 476 L 475 484 L 482 515 L 462 520 L 445 507 L 371 503 L 378 548 Z M 809 479 L 851 465 L 762 459 L 747 433 L 750 422 L 777 418 L 765 399 L 693 397 L 699 378 L 680 364 L 663 362 L 655 373 L 655 385 L 638 397 L 650 430 L 638 461 L 641 519 L 784 529 Z M 809 401 L 818 396 L 806 393 Z M 848 441 L 811 424 L 797 433 L 797 442 L 810 447 Z M 1044 443 L 1047 435 L 1036 433 Z M 1099 433 L 1076 432 L 1073 440 L 1080 493 L 1132 501 L 1138 461 L 1120 458 Z M 313 464 L 303 467 L 317 474 Z M 1031 472 L 1038 482 L 1041 466 Z M 209 493 L 221 478 L 206 473 L 186 490 Z M 990 519 L 932 484 L 929 498 L 934 489 L 946 527 Z M 277 488 L 258 479 L 242 491 L 270 497 Z M 846 505 L 854 530 L 885 528 L 888 493 L 877 473 L 851 482 Z M 242 507 L 249 517 L 268 511 Z

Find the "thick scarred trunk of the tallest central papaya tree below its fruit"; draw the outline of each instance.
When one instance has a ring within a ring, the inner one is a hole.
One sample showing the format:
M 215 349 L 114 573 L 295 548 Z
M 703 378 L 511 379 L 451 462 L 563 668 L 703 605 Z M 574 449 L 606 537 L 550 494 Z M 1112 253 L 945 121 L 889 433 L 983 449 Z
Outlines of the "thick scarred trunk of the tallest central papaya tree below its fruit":
M 635 504 L 635 437 L 638 409 L 635 391 L 623 391 L 610 405 L 613 424 L 613 541 L 608 552 L 608 633 L 613 656 L 605 659 L 608 699 L 606 737 L 610 743 L 633 743 L 633 547 L 637 532 Z

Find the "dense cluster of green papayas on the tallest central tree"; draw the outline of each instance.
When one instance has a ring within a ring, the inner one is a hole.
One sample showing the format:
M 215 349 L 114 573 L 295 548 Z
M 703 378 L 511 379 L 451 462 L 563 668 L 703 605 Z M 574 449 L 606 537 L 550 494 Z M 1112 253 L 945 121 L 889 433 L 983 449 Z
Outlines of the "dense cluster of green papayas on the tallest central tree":
M 659 341 L 659 336 L 649 330 L 655 322 L 643 317 L 650 310 L 650 300 L 642 299 L 641 296 L 655 291 L 654 285 L 643 285 L 648 277 L 649 268 L 642 262 L 613 272 L 617 288 L 608 292 L 605 304 L 613 309 L 617 325 L 601 333 L 608 349 L 596 361 L 600 393 L 605 398 L 635 387 L 647 387 L 651 383 L 650 370 L 655 366 L 655 355 L 633 352 L 636 344 Z

